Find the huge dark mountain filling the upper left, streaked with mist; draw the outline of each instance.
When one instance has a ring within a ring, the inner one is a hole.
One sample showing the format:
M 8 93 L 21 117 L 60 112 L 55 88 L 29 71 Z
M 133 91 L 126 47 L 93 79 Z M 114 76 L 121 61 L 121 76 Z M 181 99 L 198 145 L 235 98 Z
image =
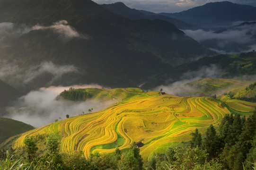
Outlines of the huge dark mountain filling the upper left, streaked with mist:
M 19 75 L 2 80 L 25 91 L 137 86 L 209 52 L 167 21 L 130 20 L 91 0 L 0 0 L 0 23 L 12 26 L 0 34 L 0 59 L 13 63 Z

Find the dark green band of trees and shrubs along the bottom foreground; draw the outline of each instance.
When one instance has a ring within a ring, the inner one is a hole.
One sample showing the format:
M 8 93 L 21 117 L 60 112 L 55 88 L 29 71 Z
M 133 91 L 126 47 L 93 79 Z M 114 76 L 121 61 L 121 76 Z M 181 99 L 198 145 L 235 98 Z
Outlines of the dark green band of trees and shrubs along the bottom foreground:
M 217 133 L 218 131 L 218 133 Z M 202 135 L 195 129 L 189 142 L 169 147 L 165 153 L 154 153 L 142 160 L 135 142 L 126 151 L 61 153 L 58 134 L 46 138 L 46 152 L 37 153 L 36 140 L 25 138 L 25 146 L 0 160 L 3 170 L 255 170 L 256 110 L 252 116 L 226 114 L 218 130 L 210 125 Z M 202 137 L 203 136 L 203 137 Z M 4 156 L 4 157 L 3 157 Z

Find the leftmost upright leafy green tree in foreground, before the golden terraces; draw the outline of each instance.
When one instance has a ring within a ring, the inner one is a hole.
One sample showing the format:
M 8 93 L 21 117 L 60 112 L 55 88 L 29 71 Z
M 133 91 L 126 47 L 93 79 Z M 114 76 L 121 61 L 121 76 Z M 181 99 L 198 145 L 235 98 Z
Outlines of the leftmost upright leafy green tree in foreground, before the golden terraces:
M 28 137 L 24 139 L 25 151 L 28 155 L 28 160 L 32 161 L 35 158 L 35 153 L 38 150 L 36 146 L 35 139 L 32 137 Z

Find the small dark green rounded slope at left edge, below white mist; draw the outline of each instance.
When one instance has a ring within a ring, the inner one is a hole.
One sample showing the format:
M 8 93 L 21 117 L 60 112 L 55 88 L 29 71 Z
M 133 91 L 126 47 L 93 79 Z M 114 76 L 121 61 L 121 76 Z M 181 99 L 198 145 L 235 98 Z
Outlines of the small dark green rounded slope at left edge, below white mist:
M 0 144 L 11 136 L 15 136 L 34 127 L 21 121 L 0 117 Z

